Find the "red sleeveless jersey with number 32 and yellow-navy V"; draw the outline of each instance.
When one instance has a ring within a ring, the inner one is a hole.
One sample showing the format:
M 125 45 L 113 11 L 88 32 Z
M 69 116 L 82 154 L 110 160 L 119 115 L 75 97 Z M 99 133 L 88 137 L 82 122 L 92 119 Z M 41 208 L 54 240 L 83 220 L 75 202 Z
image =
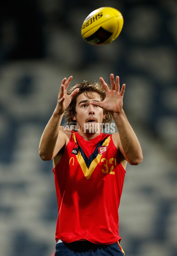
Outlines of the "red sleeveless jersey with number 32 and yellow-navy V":
M 76 132 L 53 169 L 58 200 L 55 239 L 120 241 L 118 207 L 125 170 L 112 135 L 86 141 Z

